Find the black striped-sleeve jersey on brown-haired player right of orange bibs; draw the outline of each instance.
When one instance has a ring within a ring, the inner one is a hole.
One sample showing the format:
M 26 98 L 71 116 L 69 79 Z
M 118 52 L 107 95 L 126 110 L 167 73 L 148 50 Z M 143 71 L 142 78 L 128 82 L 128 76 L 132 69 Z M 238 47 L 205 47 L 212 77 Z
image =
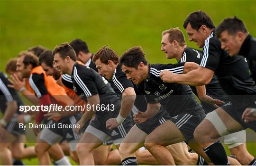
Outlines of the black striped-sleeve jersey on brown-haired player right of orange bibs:
M 96 117 L 100 121 L 106 121 L 118 115 L 121 100 L 104 77 L 90 67 L 75 63 L 71 78 L 73 90 L 83 100 L 87 101 L 87 98 L 99 95 L 100 106 L 104 109 L 96 112 Z

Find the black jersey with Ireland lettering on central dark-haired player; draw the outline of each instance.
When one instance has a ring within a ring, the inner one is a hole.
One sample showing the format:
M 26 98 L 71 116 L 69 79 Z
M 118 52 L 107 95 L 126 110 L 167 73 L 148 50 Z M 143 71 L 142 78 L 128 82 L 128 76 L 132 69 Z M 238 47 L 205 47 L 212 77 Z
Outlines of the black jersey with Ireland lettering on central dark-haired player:
M 195 100 L 191 88 L 180 83 L 164 83 L 159 74 L 170 70 L 174 74 L 182 74 L 185 63 L 148 65 L 146 80 L 138 84 L 138 89 L 146 96 L 147 102 L 159 102 L 170 116 L 181 113 L 203 113 L 201 105 Z

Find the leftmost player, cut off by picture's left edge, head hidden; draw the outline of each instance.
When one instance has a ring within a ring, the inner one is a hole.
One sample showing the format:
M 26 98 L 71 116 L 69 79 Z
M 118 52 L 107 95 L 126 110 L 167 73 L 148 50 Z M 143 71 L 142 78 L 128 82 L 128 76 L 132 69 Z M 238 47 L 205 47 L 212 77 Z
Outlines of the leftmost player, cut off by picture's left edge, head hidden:
M 35 147 L 24 148 L 25 130 L 19 127 L 19 106 L 24 105 L 18 93 L 8 87 L 7 75 L 0 72 L 0 159 L 2 165 L 12 165 L 12 158 L 17 160 L 36 157 Z M 26 120 L 31 119 L 30 115 Z M 20 141 L 20 142 L 19 142 Z M 18 154 L 20 153 L 20 154 Z

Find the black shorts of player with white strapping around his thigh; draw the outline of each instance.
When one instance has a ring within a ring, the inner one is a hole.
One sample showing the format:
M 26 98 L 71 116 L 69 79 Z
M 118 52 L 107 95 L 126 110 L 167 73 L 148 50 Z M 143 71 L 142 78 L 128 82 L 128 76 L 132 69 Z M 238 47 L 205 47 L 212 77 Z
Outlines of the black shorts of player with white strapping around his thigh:
M 236 108 L 236 106 L 229 102 L 221 108 L 224 109 L 229 114 L 229 116 L 235 119 L 240 125 L 242 125 L 244 129 L 250 128 L 256 132 L 256 121 L 250 121 L 248 123 L 245 123 L 244 120 L 242 120 L 242 115 L 246 108 L 256 108 L 256 104 L 254 102 L 246 105 L 243 108 Z

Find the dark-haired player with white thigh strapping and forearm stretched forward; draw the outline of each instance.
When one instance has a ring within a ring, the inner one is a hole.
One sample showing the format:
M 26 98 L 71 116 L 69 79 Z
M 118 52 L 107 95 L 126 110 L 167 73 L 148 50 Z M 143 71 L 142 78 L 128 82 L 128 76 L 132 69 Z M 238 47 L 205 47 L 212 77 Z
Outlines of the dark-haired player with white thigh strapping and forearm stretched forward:
M 215 165 L 228 165 L 225 149 L 218 138 L 245 128 L 256 131 L 256 122 L 245 123 L 242 113 L 247 107 L 255 106 L 256 87 L 249 75 L 249 68 L 241 56 L 230 57 L 221 49 L 220 41 L 215 37 L 214 25 L 210 17 L 203 11 L 196 11 L 184 21 L 183 27 L 189 40 L 197 42 L 203 48 L 200 67 L 185 75 L 174 75 L 164 71 L 160 77 L 168 83 L 184 83 L 192 86 L 210 82 L 214 73 L 220 86 L 229 95 L 230 103 L 207 114 L 206 118 L 195 130 L 195 139 Z M 255 159 L 247 153 L 247 165 L 255 163 Z

